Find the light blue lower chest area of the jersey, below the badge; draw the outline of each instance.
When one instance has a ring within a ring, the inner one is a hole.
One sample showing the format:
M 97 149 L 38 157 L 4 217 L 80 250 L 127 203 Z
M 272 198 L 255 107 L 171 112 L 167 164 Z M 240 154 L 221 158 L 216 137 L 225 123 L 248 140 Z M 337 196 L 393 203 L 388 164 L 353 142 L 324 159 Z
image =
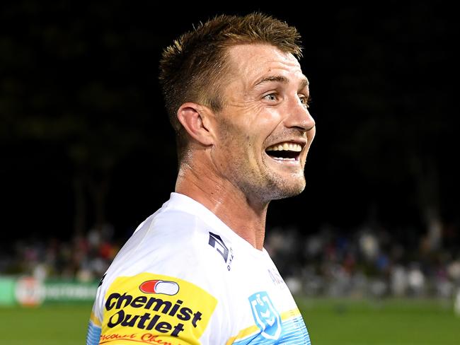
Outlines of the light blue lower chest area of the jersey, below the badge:
M 282 332 L 277 340 L 267 339 L 262 334 L 251 334 L 245 339 L 235 341 L 233 345 L 311 345 L 309 332 L 301 316 L 282 322 Z

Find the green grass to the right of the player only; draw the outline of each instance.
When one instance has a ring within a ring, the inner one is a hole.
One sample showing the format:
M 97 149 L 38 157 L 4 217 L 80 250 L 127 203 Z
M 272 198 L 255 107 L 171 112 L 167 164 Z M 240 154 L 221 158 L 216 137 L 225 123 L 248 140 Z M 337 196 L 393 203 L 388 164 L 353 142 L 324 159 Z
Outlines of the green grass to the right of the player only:
M 437 300 L 297 300 L 313 345 L 460 345 L 460 317 Z

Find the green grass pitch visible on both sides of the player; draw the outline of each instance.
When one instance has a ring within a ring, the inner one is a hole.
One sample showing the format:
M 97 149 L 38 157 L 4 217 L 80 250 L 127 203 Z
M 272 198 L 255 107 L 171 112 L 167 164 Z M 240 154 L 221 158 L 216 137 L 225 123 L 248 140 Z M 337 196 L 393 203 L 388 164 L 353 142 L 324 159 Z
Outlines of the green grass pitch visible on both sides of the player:
M 313 345 L 459 345 L 460 317 L 437 300 L 297 298 Z M 81 345 L 91 305 L 0 308 L 0 344 Z M 216 344 L 220 345 L 220 344 Z

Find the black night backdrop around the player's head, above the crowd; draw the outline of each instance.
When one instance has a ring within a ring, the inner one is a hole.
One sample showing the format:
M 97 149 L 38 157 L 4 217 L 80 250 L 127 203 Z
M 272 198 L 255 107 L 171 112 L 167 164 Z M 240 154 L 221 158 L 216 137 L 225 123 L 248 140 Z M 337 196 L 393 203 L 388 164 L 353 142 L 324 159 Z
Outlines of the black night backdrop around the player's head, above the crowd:
M 301 33 L 317 123 L 306 190 L 273 202 L 268 226 L 294 224 L 312 233 L 323 223 L 350 229 L 374 216 L 389 228 L 423 231 L 426 197 L 458 227 L 458 28 L 451 8 L 385 1 L 177 6 L 176 13 L 139 4 L 1 5 L 4 233 L 70 237 L 76 165 L 69 156 L 79 156 L 81 147 L 96 152 L 97 166 L 120 153 L 105 209 L 117 235 L 161 206 L 176 179 L 173 132 L 156 81 L 161 49 L 192 23 L 253 10 Z M 88 228 L 94 216 L 88 191 L 85 198 Z

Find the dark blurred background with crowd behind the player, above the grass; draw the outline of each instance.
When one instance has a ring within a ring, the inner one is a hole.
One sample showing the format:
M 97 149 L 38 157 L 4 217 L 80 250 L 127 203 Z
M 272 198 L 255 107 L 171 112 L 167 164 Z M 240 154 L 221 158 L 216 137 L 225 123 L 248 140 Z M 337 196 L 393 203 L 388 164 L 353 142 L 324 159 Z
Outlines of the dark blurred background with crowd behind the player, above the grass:
M 453 313 L 456 12 L 443 1 L 283 5 L 0 5 L 0 304 L 78 295 L 89 315 L 92 287 L 174 188 L 161 50 L 216 14 L 262 11 L 303 37 L 317 126 L 305 191 L 269 207 L 280 273 L 306 300 L 429 298 Z

